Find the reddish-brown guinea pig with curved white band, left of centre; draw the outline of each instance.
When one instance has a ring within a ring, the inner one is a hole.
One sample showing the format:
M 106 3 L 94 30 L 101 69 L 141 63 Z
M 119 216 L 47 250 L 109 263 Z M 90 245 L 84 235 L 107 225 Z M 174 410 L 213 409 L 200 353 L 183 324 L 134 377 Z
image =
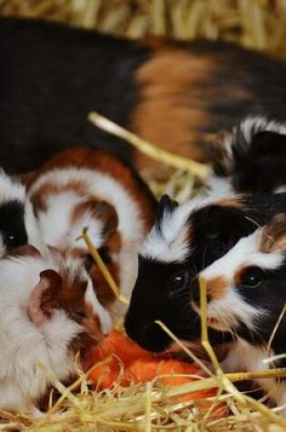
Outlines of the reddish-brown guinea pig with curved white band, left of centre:
M 138 246 L 153 225 L 156 209 L 143 180 L 102 150 L 75 147 L 44 164 L 27 188 L 45 245 L 77 251 L 91 266 L 94 289 L 104 306 L 117 308 L 84 240 L 77 237 L 88 226 L 94 246 L 123 296 L 129 297 L 137 275 Z

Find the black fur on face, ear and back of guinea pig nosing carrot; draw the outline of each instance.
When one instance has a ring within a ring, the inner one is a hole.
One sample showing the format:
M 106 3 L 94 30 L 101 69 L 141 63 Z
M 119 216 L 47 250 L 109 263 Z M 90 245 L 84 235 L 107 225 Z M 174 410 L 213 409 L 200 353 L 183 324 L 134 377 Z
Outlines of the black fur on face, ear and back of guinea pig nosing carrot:
M 203 268 L 222 257 L 242 237 L 275 214 L 286 212 L 286 194 L 245 197 L 244 206 L 206 206 L 190 216 L 190 256 L 182 263 L 163 263 L 140 257 L 139 273 L 129 310 L 126 332 L 145 349 L 159 352 L 172 340 L 154 324 L 162 320 L 177 337 L 195 340 L 201 337 L 200 317 L 192 310 L 192 280 Z M 192 251 L 192 253 L 191 253 Z M 189 285 L 170 291 L 170 280 L 178 272 L 187 272 Z M 247 331 L 247 329 L 245 329 Z M 248 329 L 249 332 L 249 329 Z M 231 339 L 230 335 L 211 332 L 212 343 Z

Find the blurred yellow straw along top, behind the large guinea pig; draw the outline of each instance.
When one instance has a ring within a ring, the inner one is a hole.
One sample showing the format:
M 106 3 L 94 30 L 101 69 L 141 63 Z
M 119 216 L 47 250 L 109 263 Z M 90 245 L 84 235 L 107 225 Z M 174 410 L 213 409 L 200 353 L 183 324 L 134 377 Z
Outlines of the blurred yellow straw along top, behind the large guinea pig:
M 132 38 L 204 36 L 286 55 L 285 0 L 2 0 L 0 13 Z

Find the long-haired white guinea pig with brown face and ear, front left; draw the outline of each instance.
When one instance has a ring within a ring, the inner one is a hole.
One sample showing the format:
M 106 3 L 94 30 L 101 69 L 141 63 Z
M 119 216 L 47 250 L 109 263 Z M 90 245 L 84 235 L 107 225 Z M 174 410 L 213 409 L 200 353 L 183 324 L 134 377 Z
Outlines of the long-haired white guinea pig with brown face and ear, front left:
M 90 277 L 74 256 L 61 263 L 22 246 L 0 260 L 0 407 L 37 411 L 50 389 L 39 362 L 58 380 L 76 377 L 76 354 L 89 351 L 111 328 Z

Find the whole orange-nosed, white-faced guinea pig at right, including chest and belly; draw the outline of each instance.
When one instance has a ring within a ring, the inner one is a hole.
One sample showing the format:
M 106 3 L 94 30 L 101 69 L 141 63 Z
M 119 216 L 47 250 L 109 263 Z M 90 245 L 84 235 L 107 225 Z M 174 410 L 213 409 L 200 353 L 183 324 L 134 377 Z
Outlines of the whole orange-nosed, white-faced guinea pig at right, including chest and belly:
M 286 213 L 243 237 L 200 276 L 206 283 L 208 325 L 232 333 L 236 340 L 222 362 L 223 369 L 285 368 L 286 316 L 281 312 L 286 303 Z M 200 313 L 198 285 L 196 278 L 192 307 Z M 285 378 L 263 379 L 260 384 L 277 405 L 284 406 L 286 416 Z

